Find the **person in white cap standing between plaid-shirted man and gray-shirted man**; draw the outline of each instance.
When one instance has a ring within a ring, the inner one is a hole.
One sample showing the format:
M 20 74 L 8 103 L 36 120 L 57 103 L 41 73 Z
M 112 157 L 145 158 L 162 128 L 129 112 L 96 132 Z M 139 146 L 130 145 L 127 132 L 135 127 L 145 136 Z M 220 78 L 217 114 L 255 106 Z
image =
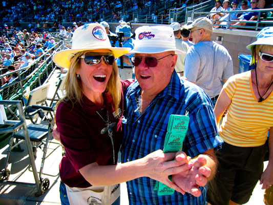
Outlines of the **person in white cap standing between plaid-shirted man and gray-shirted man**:
M 178 54 L 177 55 L 177 61 L 176 61 L 176 65 L 175 65 L 175 71 L 177 73 L 180 74 L 180 76 L 183 76 L 183 72 L 184 72 L 184 59 L 186 56 L 186 52 L 188 49 L 188 45 L 183 42 L 183 40 L 181 39 L 181 26 L 178 22 L 173 22 L 172 24 L 170 24 L 170 27 L 172 27 L 174 29 L 174 35 L 175 35 L 175 46 L 177 49 L 184 51 L 183 54 Z

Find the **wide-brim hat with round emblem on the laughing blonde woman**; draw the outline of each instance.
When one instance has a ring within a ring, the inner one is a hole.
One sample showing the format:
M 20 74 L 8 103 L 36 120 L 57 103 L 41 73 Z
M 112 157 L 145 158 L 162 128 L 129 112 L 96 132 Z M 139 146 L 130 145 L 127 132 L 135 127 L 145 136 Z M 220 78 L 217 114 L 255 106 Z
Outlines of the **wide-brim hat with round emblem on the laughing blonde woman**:
M 81 51 L 109 49 L 115 57 L 122 56 L 131 48 L 112 47 L 105 28 L 96 23 L 78 27 L 72 37 L 72 48 L 59 51 L 53 55 L 53 61 L 60 67 L 69 68 L 70 59 Z

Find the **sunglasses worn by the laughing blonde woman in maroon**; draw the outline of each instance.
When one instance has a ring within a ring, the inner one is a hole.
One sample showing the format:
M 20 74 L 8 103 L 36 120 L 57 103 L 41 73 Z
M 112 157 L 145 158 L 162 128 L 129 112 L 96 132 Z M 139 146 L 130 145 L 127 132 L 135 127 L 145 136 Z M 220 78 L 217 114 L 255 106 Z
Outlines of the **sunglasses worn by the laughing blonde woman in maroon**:
M 79 58 L 83 58 L 86 65 L 94 66 L 100 63 L 101 58 L 103 57 L 104 63 L 108 65 L 113 65 L 115 61 L 114 55 L 93 55 L 94 52 L 87 52 L 85 55 L 81 55 Z

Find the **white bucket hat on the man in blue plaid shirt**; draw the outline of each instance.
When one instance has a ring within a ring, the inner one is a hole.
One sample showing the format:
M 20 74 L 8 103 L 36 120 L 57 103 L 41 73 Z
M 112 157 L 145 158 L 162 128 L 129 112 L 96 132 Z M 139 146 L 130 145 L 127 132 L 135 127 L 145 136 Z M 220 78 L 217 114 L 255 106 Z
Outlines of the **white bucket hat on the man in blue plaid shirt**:
M 141 26 L 136 29 L 134 49 L 129 53 L 162 53 L 175 51 L 176 54 L 185 52 L 176 49 L 173 28 L 169 26 Z

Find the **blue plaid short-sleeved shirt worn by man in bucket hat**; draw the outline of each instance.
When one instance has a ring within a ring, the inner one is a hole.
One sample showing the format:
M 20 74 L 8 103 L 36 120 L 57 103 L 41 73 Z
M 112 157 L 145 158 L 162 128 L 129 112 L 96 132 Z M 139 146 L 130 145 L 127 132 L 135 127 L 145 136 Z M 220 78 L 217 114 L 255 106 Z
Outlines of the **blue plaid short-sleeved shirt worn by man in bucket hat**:
M 213 105 L 209 97 L 198 86 L 180 79 L 173 73 L 169 85 L 161 91 L 140 114 L 137 105 L 141 88 L 135 81 L 128 88 L 127 111 L 123 113 L 122 162 L 142 158 L 158 149 L 163 150 L 167 124 L 171 114 L 184 115 L 188 111 L 190 124 L 183 144 L 183 151 L 191 157 L 206 150 L 221 148 Z M 158 196 L 154 191 L 155 180 L 141 177 L 127 182 L 130 204 L 205 204 L 205 190 L 202 195 L 184 196 L 176 192 Z

